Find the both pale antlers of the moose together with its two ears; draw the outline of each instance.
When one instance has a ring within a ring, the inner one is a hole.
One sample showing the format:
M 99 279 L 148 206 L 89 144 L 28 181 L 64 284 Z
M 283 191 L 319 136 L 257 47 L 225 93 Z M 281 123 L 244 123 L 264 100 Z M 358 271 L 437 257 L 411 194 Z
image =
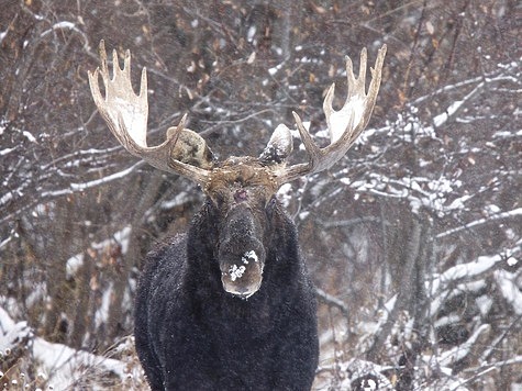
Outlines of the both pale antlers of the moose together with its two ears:
M 355 78 L 353 65 L 346 57 L 346 74 L 348 96 L 340 111 L 332 108 L 335 85 L 332 85 L 324 98 L 323 110 L 330 131 L 331 144 L 320 148 L 304 129 L 301 119 L 293 112 L 301 141 L 309 155 L 309 161 L 285 167 L 279 165 L 291 152 L 291 135 L 288 127 L 279 125 L 270 142 L 259 157 L 259 163 L 268 170 L 278 186 L 292 181 L 308 174 L 319 172 L 332 167 L 340 160 L 358 135 L 368 124 L 380 87 L 382 64 L 386 56 L 386 45 L 379 49 L 371 70 L 371 82 L 366 93 L 366 49 L 360 53 L 359 75 Z M 147 75 L 142 70 L 140 93 L 135 94 L 131 85 L 131 53 L 125 52 L 123 69 L 118 63 L 115 51 L 112 54 L 113 76 L 110 78 L 107 65 L 107 53 L 103 41 L 100 42 L 101 69 L 89 74 L 89 85 L 95 103 L 110 131 L 131 154 L 143 158 L 152 166 L 186 176 L 198 182 L 203 189 L 209 182 L 214 167 L 212 153 L 204 139 L 197 133 L 185 129 L 187 115 L 184 115 L 178 126 L 169 127 L 166 141 L 155 147 L 148 147 L 147 132 Z M 99 87 L 99 75 L 103 80 L 105 97 Z

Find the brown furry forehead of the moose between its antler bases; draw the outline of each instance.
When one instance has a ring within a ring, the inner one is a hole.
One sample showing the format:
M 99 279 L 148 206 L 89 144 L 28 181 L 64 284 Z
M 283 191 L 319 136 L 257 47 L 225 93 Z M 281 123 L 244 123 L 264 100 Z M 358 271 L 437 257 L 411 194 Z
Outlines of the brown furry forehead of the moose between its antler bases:
M 277 190 L 274 170 L 253 157 L 230 157 L 212 169 L 204 188 L 210 197 L 233 197 L 236 202 L 246 200 L 253 191 L 256 197 L 268 199 Z

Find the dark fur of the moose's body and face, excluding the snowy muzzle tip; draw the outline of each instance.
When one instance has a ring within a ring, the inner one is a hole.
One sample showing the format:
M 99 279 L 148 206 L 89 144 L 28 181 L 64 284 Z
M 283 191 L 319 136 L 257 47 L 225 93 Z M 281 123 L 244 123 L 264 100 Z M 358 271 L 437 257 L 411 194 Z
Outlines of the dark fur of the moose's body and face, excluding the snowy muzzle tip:
M 296 226 L 255 181 L 223 183 L 187 235 L 148 256 L 135 338 L 149 384 L 310 390 L 319 355 L 315 298 Z M 224 264 L 259 245 L 260 288 L 246 300 L 225 292 Z

